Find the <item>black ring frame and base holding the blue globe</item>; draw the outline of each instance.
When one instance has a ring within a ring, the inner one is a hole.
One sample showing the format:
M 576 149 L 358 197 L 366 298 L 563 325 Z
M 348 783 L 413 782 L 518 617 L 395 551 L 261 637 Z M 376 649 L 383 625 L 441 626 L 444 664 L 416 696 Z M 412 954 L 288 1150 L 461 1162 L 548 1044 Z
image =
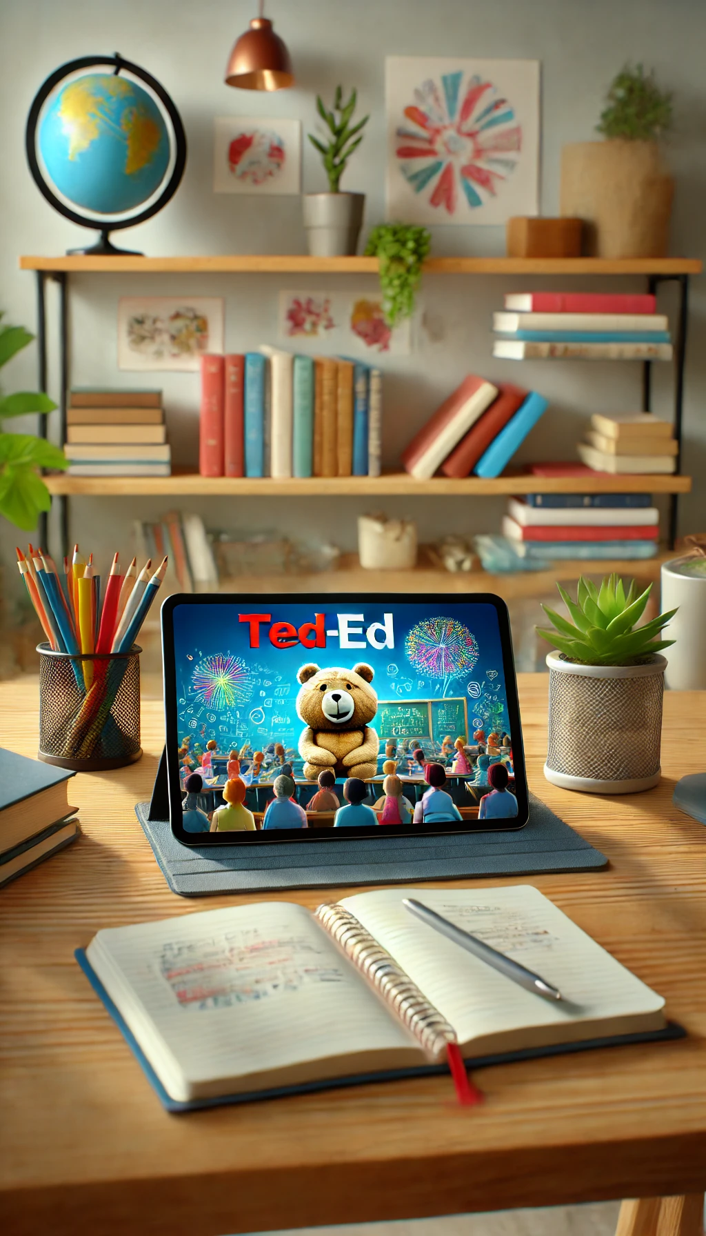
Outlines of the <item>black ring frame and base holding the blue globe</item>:
M 80 69 L 90 69 L 99 66 L 110 66 L 114 74 L 122 70 L 131 74 L 137 79 L 138 83 L 145 83 L 157 95 L 164 111 L 167 112 L 173 130 L 173 151 L 174 159 L 172 172 L 166 180 L 161 193 L 152 201 L 151 205 L 146 206 L 145 210 L 138 211 L 130 219 L 115 220 L 115 222 L 108 224 L 103 219 L 90 219 L 88 215 L 79 214 L 77 210 L 72 210 L 70 206 L 66 204 L 57 194 L 53 192 L 52 187 L 45 178 L 45 173 L 40 167 L 40 161 L 37 158 L 37 124 L 40 120 L 40 114 L 47 99 L 49 98 L 52 90 L 61 84 L 67 77 L 78 73 Z M 142 224 L 147 219 L 152 219 L 158 210 L 173 198 L 182 176 L 184 174 L 184 167 L 187 162 L 187 137 L 184 133 L 184 126 L 182 124 L 182 117 L 177 111 L 172 99 L 164 90 L 162 85 L 145 69 L 141 69 L 138 64 L 132 64 L 131 61 L 124 61 L 119 52 L 115 56 L 83 56 L 77 61 L 69 61 L 67 64 L 62 64 L 61 68 L 56 69 L 54 73 L 49 74 L 47 80 L 42 84 L 37 91 L 35 99 L 32 100 L 32 106 L 30 108 L 30 115 L 27 116 L 27 127 L 25 131 L 25 152 L 27 154 L 27 163 L 30 164 L 30 172 L 35 179 L 37 188 L 42 197 L 58 210 L 64 219 L 70 219 L 73 224 L 78 224 L 80 227 L 93 227 L 100 232 L 100 240 L 95 245 L 89 245 L 87 248 L 69 248 L 67 253 L 80 253 L 87 256 L 98 257 L 122 257 L 122 256 L 136 256 L 142 257 L 143 255 L 135 248 L 116 248 L 111 243 L 110 232 L 119 231 L 122 227 L 135 227 L 136 224 Z

